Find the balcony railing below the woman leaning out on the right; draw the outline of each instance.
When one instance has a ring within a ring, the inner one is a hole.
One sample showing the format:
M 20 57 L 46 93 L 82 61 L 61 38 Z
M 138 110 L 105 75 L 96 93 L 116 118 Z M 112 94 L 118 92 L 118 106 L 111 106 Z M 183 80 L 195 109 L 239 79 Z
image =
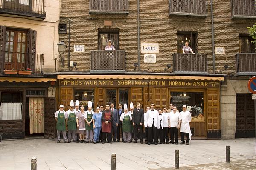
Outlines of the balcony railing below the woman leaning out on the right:
M 175 74 L 208 74 L 206 54 L 174 53 L 172 57 Z

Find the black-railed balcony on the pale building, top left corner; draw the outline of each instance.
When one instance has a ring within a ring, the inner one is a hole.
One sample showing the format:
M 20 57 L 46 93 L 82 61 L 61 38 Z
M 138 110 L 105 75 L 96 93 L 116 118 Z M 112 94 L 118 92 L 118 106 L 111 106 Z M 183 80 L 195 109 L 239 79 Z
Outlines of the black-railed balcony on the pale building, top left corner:
M 44 20 L 45 0 L 0 0 L 0 14 Z

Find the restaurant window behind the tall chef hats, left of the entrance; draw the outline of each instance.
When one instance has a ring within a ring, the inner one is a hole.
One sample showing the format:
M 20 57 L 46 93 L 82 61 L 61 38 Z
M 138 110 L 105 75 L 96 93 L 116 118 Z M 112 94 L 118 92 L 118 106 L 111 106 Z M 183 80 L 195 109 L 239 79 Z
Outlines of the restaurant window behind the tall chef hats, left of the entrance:
M 94 108 L 94 89 L 75 90 L 75 99 L 79 100 L 79 106 L 83 105 L 84 110 L 88 110 L 88 101 L 92 101 L 92 110 Z

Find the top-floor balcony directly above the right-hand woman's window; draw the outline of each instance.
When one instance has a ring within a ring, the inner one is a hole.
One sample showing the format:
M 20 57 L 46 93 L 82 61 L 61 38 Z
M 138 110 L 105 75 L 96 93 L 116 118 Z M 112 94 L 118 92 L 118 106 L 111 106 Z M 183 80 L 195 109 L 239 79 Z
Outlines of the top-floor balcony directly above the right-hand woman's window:
M 207 0 L 169 0 L 169 15 L 207 17 Z

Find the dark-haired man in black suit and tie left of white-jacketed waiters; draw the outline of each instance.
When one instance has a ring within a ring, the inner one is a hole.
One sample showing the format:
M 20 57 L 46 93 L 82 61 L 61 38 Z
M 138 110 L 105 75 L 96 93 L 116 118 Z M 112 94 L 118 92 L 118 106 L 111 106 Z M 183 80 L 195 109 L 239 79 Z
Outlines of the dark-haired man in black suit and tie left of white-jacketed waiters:
M 143 115 L 144 111 L 140 108 L 140 103 L 137 102 L 137 108 L 134 109 L 132 114 L 132 125 L 134 126 L 134 143 L 138 142 L 138 136 L 140 137 L 140 143 L 143 144 Z M 140 133 L 138 133 L 138 129 Z

